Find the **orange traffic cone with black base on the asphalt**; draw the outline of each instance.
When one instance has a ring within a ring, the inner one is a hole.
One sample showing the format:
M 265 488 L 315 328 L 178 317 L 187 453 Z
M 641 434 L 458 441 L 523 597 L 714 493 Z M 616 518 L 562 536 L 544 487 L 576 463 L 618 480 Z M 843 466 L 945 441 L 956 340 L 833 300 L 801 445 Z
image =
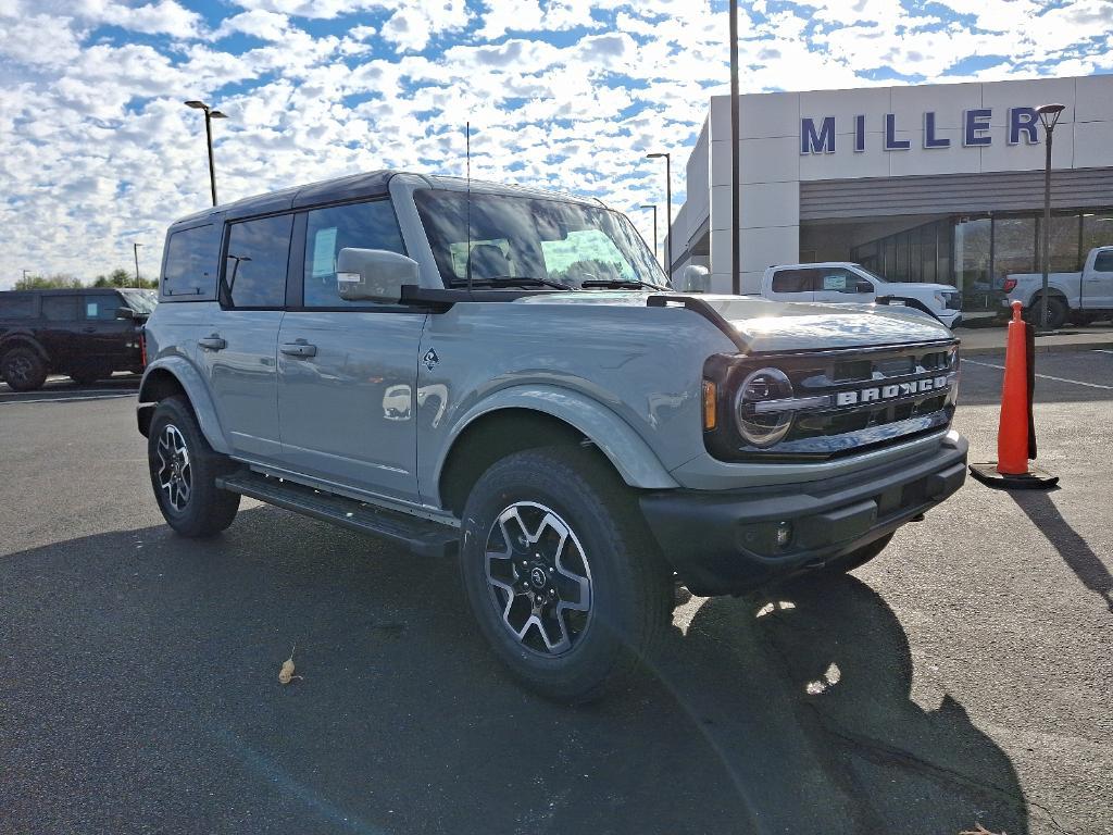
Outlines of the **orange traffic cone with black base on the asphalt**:
M 1051 488 L 1057 475 L 1048 475 L 1028 459 L 1036 456 L 1032 421 L 1032 391 L 1035 382 L 1034 341 L 1031 326 L 1021 317 L 1021 303 L 1013 302 L 1013 320 L 1005 343 L 1005 380 L 1001 390 L 1001 420 L 997 423 L 997 460 L 971 464 L 971 474 L 1002 490 Z

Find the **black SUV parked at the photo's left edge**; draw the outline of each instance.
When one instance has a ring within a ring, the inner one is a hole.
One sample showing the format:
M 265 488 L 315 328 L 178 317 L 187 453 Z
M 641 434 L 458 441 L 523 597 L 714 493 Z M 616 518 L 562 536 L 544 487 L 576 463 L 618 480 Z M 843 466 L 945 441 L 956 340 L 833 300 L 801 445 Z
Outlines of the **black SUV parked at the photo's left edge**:
M 0 377 L 27 392 L 50 373 L 88 385 L 114 371 L 141 372 L 142 325 L 156 303 L 144 289 L 0 293 Z

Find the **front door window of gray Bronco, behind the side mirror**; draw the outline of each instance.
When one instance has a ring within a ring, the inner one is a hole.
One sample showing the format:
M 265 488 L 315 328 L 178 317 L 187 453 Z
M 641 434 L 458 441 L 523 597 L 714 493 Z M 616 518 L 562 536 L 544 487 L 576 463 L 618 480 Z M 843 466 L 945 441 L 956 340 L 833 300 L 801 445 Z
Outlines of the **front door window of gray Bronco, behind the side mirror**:
M 313 209 L 305 225 L 306 307 L 365 306 L 336 292 L 336 256 L 341 249 L 386 249 L 405 255 L 402 232 L 390 200 Z M 230 250 L 229 250 L 230 252 Z

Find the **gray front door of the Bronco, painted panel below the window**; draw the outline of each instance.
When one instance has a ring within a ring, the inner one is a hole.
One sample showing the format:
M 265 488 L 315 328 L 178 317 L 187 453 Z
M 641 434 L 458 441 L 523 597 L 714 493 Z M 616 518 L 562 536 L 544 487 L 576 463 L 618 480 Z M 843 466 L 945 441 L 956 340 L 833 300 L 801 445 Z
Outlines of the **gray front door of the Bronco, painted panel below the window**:
M 288 312 L 278 334 L 278 415 L 289 469 L 417 499 L 414 419 L 426 315 Z

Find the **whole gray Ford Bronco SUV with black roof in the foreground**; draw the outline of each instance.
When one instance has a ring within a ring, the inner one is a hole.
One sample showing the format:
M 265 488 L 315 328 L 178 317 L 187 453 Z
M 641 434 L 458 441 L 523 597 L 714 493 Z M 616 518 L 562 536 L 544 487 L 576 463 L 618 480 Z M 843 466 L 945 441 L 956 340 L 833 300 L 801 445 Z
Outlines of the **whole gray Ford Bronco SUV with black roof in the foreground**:
M 622 215 L 372 173 L 170 227 L 139 431 L 167 522 L 242 495 L 456 556 L 494 652 L 585 701 L 670 621 L 875 557 L 963 483 L 957 342 L 673 291 Z

